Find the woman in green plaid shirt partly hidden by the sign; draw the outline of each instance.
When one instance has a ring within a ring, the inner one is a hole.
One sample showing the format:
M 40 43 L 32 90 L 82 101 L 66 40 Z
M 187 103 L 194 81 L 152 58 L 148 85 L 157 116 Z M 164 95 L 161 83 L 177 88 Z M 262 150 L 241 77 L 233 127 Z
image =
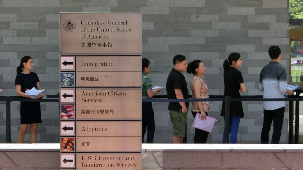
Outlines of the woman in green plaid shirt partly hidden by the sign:
M 151 63 L 149 60 L 142 59 L 142 99 L 151 99 L 161 91 L 160 88 L 152 91 L 152 79 L 147 76 L 150 70 Z M 153 143 L 155 133 L 155 117 L 154 110 L 152 109 L 152 102 L 142 102 L 142 143 L 146 129 L 146 143 Z

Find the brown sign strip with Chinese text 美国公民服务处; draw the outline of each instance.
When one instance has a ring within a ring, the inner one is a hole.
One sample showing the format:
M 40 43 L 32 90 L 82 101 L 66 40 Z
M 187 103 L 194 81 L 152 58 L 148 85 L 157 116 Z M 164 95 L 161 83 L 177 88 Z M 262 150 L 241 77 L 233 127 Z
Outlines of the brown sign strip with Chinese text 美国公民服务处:
M 140 104 L 77 104 L 77 120 L 141 119 Z

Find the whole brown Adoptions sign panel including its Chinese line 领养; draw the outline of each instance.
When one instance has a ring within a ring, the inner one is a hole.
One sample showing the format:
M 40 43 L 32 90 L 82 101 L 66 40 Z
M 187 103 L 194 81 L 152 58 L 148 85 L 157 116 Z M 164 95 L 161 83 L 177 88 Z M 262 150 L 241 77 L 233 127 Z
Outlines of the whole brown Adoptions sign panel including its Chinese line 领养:
M 140 126 L 139 121 L 78 121 L 77 152 L 140 152 Z

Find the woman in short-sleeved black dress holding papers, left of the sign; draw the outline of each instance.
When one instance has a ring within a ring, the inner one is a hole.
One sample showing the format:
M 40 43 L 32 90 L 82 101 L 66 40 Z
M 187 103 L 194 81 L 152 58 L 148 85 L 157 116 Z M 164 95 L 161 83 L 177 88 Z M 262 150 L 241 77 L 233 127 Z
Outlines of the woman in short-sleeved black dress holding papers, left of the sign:
M 36 73 L 30 72 L 33 69 L 33 59 L 29 56 L 24 56 L 21 59 L 20 65 L 17 67 L 17 76 L 15 80 L 16 93 L 22 98 L 30 98 L 25 94 L 27 89 L 35 87 L 40 90 L 39 78 Z M 23 68 L 23 70 L 22 70 Z M 37 98 L 42 98 L 40 93 Z M 30 124 L 30 143 L 36 143 L 38 123 L 41 123 L 40 102 L 20 102 L 20 131 L 18 135 L 18 143 L 24 142 L 24 136 Z

